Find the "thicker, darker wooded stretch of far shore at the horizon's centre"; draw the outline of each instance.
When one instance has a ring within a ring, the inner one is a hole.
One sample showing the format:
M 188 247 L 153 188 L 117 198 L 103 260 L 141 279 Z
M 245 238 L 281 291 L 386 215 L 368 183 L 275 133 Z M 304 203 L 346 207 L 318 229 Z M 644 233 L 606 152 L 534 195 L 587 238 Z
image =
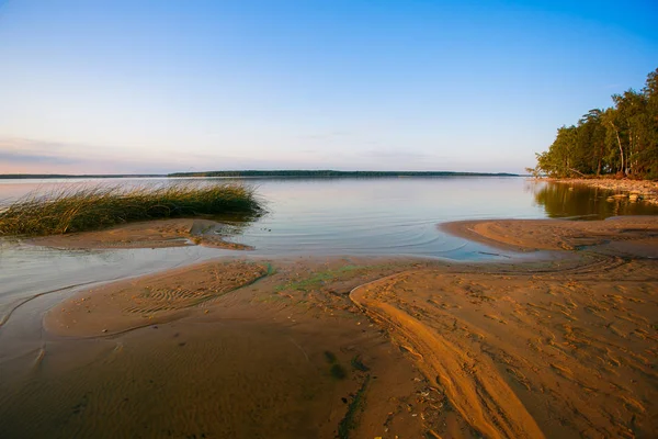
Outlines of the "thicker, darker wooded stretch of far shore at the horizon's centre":
M 208 171 L 175 172 L 168 177 L 518 177 L 515 173 L 449 172 L 449 171 L 332 171 L 332 170 L 273 170 L 273 171 Z

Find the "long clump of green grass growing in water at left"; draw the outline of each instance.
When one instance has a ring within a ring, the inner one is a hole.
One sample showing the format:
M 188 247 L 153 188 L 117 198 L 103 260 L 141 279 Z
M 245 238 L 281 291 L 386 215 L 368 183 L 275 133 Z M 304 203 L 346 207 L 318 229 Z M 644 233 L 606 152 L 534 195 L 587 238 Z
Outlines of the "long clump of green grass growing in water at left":
M 118 224 L 200 215 L 243 215 L 263 212 L 251 187 L 174 184 L 156 188 L 65 188 L 30 193 L 0 206 L 0 236 L 44 236 L 98 230 Z

